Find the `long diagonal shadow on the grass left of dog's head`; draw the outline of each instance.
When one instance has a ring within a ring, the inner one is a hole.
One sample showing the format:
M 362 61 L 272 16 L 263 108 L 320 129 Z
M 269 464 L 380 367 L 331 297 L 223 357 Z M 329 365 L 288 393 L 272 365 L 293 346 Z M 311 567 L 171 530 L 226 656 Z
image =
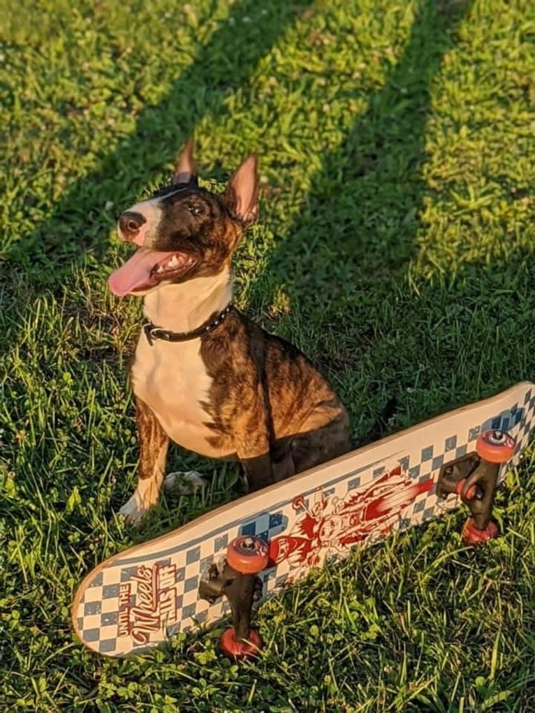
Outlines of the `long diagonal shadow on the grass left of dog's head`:
M 71 185 L 46 222 L 11 245 L 11 270 L 31 267 L 36 286 L 54 288 L 86 253 L 101 257 L 114 222 L 104 210 L 106 201 L 123 205 L 145 190 L 148 173 L 167 163 L 203 116 L 226 111 L 229 93 L 246 85 L 258 61 L 308 6 L 308 0 L 272 0 L 262 10 L 263 21 L 251 23 L 261 11 L 258 3 L 236 3 L 163 101 L 142 111 L 136 130 Z M 36 267 L 42 268 L 40 275 Z

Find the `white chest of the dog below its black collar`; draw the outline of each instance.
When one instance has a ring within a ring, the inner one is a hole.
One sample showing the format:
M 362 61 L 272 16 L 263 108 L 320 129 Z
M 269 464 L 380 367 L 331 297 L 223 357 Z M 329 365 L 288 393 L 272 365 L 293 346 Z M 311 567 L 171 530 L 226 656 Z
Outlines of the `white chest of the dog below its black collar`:
M 155 341 L 151 346 L 142 334 L 131 380 L 134 394 L 153 410 L 175 443 L 203 456 L 228 455 L 209 441 L 214 434 L 203 404 L 210 400 L 212 379 L 200 356 L 200 339 L 178 344 Z

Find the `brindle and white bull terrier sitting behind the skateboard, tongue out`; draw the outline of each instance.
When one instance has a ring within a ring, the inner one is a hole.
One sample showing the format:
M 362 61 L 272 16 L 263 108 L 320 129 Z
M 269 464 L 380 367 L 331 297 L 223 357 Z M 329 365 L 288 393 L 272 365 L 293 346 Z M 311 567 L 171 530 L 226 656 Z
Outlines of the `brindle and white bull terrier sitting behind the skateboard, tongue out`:
M 120 511 L 128 520 L 158 501 L 169 441 L 238 460 L 249 491 L 351 448 L 347 411 L 327 381 L 232 304 L 233 252 L 257 217 L 257 156 L 216 194 L 198 185 L 189 140 L 170 185 L 118 219 L 119 237 L 138 250 L 108 287 L 143 297 L 146 318 L 130 371 L 140 458 Z

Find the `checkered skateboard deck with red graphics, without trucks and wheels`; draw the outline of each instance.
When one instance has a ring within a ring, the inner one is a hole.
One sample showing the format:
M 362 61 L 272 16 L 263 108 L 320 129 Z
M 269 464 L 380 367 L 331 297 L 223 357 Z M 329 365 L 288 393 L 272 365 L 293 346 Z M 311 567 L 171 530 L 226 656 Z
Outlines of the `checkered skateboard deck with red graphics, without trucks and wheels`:
M 473 451 L 486 429 L 516 438 L 513 456 L 499 466 L 503 478 L 534 427 L 535 384 L 523 382 L 239 498 L 98 565 L 76 592 L 74 631 L 91 650 L 123 656 L 217 622 L 230 613 L 228 601 L 210 604 L 198 588 L 233 538 L 254 535 L 269 544 L 260 573 L 265 600 L 326 558 L 344 558 L 354 545 L 459 506 L 454 493 L 437 496 L 438 473 Z

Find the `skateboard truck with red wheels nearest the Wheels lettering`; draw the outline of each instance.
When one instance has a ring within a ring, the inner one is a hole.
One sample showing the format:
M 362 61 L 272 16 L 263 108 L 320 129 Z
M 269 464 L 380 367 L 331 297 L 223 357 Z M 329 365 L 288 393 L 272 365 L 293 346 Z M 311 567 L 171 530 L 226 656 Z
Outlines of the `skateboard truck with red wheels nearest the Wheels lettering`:
M 255 654 L 262 646 L 260 635 L 251 629 L 253 603 L 262 596 L 262 581 L 257 576 L 267 567 L 267 544 L 260 538 L 242 536 L 228 545 L 223 569 L 211 565 L 208 580 L 201 580 L 199 597 L 213 604 L 227 597 L 233 615 L 233 627 L 223 632 L 220 646 L 233 657 Z

